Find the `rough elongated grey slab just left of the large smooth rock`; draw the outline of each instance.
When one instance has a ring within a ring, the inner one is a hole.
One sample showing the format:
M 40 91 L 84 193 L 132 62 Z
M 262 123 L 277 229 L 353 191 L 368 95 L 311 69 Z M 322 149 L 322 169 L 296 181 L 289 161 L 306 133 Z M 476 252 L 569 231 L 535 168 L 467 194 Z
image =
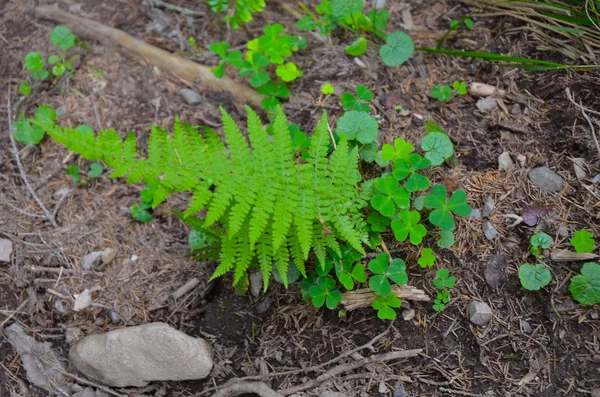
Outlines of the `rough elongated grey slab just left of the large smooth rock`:
M 67 369 L 66 362 L 52 350 L 50 343 L 36 341 L 25 334 L 25 330 L 18 323 L 6 327 L 3 333 L 21 357 L 27 379 L 32 385 L 47 390 L 50 395 L 71 394 L 66 379 L 60 372 Z

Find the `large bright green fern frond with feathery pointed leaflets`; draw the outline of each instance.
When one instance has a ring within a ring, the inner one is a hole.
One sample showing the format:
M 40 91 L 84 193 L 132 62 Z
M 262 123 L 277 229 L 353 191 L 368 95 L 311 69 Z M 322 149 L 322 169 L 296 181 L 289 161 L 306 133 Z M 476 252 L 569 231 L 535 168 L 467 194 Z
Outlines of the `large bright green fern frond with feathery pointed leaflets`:
M 361 208 L 368 195 L 361 194 L 358 152 L 349 150 L 342 137 L 337 150 L 328 154 L 325 112 L 306 161 L 296 158 L 281 109 L 273 137 L 250 108 L 247 138 L 221 112 L 224 139 L 210 128 L 176 119 L 173 134 L 152 128 L 146 158 L 137 152 L 132 133 L 121 139 L 114 130 L 94 136 L 31 122 L 82 157 L 104 161 L 113 169 L 111 177 L 156 186 L 154 206 L 172 194 L 191 192 L 189 208 L 178 215 L 196 230 L 211 235 L 220 231 L 221 262 L 211 279 L 233 271 L 237 284 L 249 268 L 259 268 L 266 290 L 274 266 L 284 283 L 290 261 L 306 276 L 311 250 L 321 266 L 328 249 L 340 255 L 340 242 L 364 253 L 367 234 Z

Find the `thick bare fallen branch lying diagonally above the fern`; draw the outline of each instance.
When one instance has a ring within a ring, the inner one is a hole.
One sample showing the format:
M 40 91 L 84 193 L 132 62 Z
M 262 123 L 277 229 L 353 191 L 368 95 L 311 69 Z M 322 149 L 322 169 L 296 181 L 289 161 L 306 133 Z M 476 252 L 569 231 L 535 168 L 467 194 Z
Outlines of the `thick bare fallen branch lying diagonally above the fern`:
M 140 56 L 162 70 L 173 74 L 192 85 L 199 82 L 201 88 L 215 91 L 227 91 L 235 96 L 240 104 L 250 104 L 261 107 L 263 95 L 245 85 L 239 84 L 227 76 L 216 78 L 208 66 L 199 65 L 189 59 L 180 58 L 168 51 L 138 40 L 127 33 L 105 26 L 96 21 L 82 18 L 57 7 L 41 6 L 35 9 L 38 16 L 57 21 L 66 25 L 77 36 L 90 40 L 99 40 L 117 47 L 130 55 Z

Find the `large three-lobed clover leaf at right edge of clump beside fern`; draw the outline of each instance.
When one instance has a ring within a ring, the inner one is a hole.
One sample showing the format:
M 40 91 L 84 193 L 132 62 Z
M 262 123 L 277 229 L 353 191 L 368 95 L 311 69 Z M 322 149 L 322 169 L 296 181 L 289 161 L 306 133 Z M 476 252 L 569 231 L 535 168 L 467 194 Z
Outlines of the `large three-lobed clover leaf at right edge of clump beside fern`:
M 429 214 L 429 222 L 442 230 L 454 229 L 454 218 L 452 213 L 459 216 L 469 216 L 471 207 L 467 204 L 467 195 L 463 190 L 452 193 L 449 200 L 446 199 L 446 186 L 435 185 L 431 192 L 425 196 L 425 207 L 434 209 Z

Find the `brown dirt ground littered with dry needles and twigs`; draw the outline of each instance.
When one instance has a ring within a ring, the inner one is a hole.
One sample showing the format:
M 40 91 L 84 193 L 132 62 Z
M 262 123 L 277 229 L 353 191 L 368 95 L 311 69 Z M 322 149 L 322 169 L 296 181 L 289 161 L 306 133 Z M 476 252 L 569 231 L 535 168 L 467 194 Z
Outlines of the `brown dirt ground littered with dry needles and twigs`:
M 159 207 L 151 223 L 136 222 L 127 209 L 139 200 L 141 186 L 106 176 L 85 186 L 74 185 L 66 167 L 76 163 L 87 170 L 87 162 L 49 139 L 23 148 L 20 155 L 37 195 L 51 210 L 57 208 L 59 227 L 27 215 L 40 212 L 25 190 L 9 150 L 6 103 L 9 93 L 12 104 L 18 102 L 16 89 L 26 76 L 25 54 L 31 50 L 50 53 L 48 35 L 54 25 L 31 11 L 49 3 L 55 2 L 0 1 L 0 238 L 14 244 L 12 262 L 0 263 L 2 326 L 17 321 L 30 335 L 51 342 L 65 355 L 69 327 L 88 335 L 163 321 L 205 337 L 216 354 L 210 378 L 126 391 L 157 396 L 208 395 L 213 386 L 232 377 L 306 368 L 367 343 L 388 328 L 371 309 L 349 312 L 343 319 L 337 312 L 316 310 L 302 302 L 297 287 L 287 291 L 275 287 L 254 298 L 233 294 L 227 279 L 208 284 L 214 264 L 186 256 L 188 229 L 171 214 L 173 209 L 185 208 L 185 197 L 175 197 Z M 295 32 L 294 18 L 277 2 L 269 2 L 262 14 L 238 31 L 221 26 L 201 1 L 172 0 L 205 12 L 195 17 L 153 9 L 141 0 L 57 3 L 171 52 L 189 50 L 182 39 L 189 36 L 201 47 L 224 39 L 230 47 L 243 46 L 249 37 L 260 34 L 264 24 L 274 22 Z M 393 16 L 389 30 L 399 30 L 406 3 L 388 3 Z M 417 46 L 434 46 L 449 21 L 462 18 L 469 10 L 452 1 L 410 0 L 407 4 Z M 510 19 L 476 19 L 473 30 L 461 30 L 447 45 L 514 56 L 547 56 L 536 51 L 525 31 L 514 29 L 518 26 Z M 587 123 L 565 94 L 569 87 L 588 107 L 600 110 L 600 74 L 535 73 L 422 53 L 396 69 L 383 67 L 376 62 L 375 53 L 368 53 L 364 70 L 345 55 L 349 40 L 345 34 L 335 34 L 332 44 L 323 45 L 309 36 L 309 48 L 294 56 L 304 77 L 291 87 L 295 96 L 285 107 L 290 121 L 312 131 L 323 107 L 331 122 L 343 113 L 337 97 L 322 98 L 324 82 L 342 91 L 366 85 L 375 93 L 374 110 L 381 116 L 383 142 L 395 137 L 420 142 L 425 135 L 421 120 L 435 120 L 454 141 L 457 152 L 456 166 L 436 176 L 449 189 L 465 189 L 473 208 L 482 208 L 489 198 L 495 205 L 482 219 L 461 220 L 457 244 L 436 264 L 449 268 L 459 280 L 447 309 L 436 313 L 431 303 L 411 303 L 416 310 L 414 319 L 397 319 L 372 351 L 361 352 L 423 348 L 423 354 L 360 368 L 298 395 L 319 395 L 325 390 L 348 396 L 394 397 L 591 395 L 600 387 L 598 309 L 578 306 L 568 291 L 568 280 L 581 263 L 548 260 L 553 281 L 539 292 L 521 288 L 516 273 L 528 259 L 529 237 L 534 232 L 550 234 L 555 248 L 568 248 L 569 237 L 561 236 L 560 228 L 572 233 L 585 227 L 600 236 L 600 189 L 590 182 L 600 170 L 598 153 Z M 63 106 L 62 125 L 88 124 L 94 129 L 114 128 L 121 134 L 134 131 L 140 142 L 147 139 L 153 123 L 169 128 L 179 115 L 188 123 L 218 127 L 217 106 L 231 109 L 218 95 L 207 95 L 201 105 L 189 106 L 178 93 L 185 84 L 166 71 L 98 42 L 86 43 L 93 52 L 82 51 L 82 61 L 68 86 L 47 87 L 24 103 L 25 109 L 31 111 L 42 103 Z M 209 65 L 217 62 L 208 51 L 196 60 Z M 504 106 L 482 112 L 476 107 L 477 98 L 454 98 L 444 104 L 431 98 L 431 86 L 454 80 L 506 90 Z M 398 104 L 411 115 L 400 117 L 395 110 Z M 498 171 L 497 158 L 504 151 L 524 160 L 514 170 Z M 583 159 L 589 179 L 576 178 L 572 158 Z M 560 193 L 546 193 L 530 183 L 527 172 L 541 165 L 565 179 L 566 187 Z M 68 189 L 64 199 L 57 194 L 61 189 Z M 539 222 L 511 226 L 515 218 L 510 215 L 521 216 L 531 206 L 545 209 Z M 497 240 L 485 238 L 485 220 L 498 230 Z M 411 285 L 433 295 L 434 272 L 416 265 L 416 249 L 387 237 L 390 250 L 409 260 Z M 108 247 L 118 252 L 112 264 L 98 272 L 79 270 L 82 256 Z M 194 277 L 200 281 L 198 287 L 174 301 L 170 297 L 173 291 Z M 95 303 L 89 310 L 57 310 L 57 300 L 72 307 L 73 295 L 86 288 L 93 291 Z M 469 321 L 467 305 L 472 299 L 491 306 L 494 317 L 487 326 Z M 118 321 L 111 320 L 112 312 L 118 313 Z M 20 359 L 4 338 L 0 339 L 0 364 L 0 396 L 45 395 L 26 386 Z M 286 388 L 317 375 L 273 377 L 268 383 Z

